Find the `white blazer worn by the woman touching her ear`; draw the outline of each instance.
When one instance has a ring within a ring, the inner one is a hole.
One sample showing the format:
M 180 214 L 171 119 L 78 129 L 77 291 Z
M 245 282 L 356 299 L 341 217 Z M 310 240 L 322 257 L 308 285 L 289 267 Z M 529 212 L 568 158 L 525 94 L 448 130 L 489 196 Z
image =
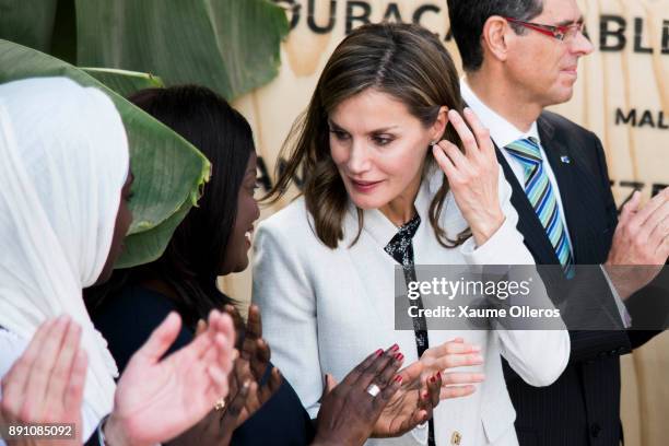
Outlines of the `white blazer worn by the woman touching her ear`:
M 441 177 L 439 177 L 441 178 Z M 509 202 L 510 187 L 500 172 L 504 224 L 483 245 L 473 238 L 457 248 L 441 246 L 430 224 L 429 206 L 438 185 L 423 181 L 415 208 L 422 223 L 413 237 L 415 265 L 533 265 L 516 230 L 518 215 Z M 300 198 L 263 221 L 255 239 L 253 301 L 260 306 L 263 336 L 272 362 L 297 391 L 312 418 L 318 413 L 324 374 L 338 382 L 376 349 L 397 342 L 404 364 L 418 360 L 413 331 L 395 330 L 394 274 L 396 261 L 384 251 L 397 227 L 378 210 L 364 211 L 360 239 L 353 206 L 344 222 L 344 239 L 337 249 L 315 235 L 305 202 Z M 441 219 L 455 237 L 468 224 L 453 195 Z M 427 321 L 430 324 L 430 320 Z M 430 325 L 429 325 L 430 327 Z M 548 386 L 562 374 L 570 355 L 566 331 L 446 331 L 430 330 L 430 345 L 462 337 L 481 345 L 484 364 L 470 367 L 485 382 L 466 398 L 444 400 L 434 412 L 436 444 L 517 445 L 510 402 L 500 354 L 533 386 Z M 462 369 L 460 369 L 462 371 Z M 427 427 L 399 438 L 369 439 L 367 445 L 426 444 Z

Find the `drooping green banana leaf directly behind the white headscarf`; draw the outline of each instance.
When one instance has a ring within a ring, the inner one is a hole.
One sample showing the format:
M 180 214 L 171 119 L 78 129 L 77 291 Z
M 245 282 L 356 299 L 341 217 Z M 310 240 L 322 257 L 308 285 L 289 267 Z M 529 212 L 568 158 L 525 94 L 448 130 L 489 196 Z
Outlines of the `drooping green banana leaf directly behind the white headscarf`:
M 0 40 L 0 83 L 31 77 L 64 75 L 95 86 L 114 101 L 124 120 L 136 176 L 131 209 L 134 221 L 127 251 L 117 267 L 131 267 L 161 256 L 174 228 L 197 203 L 209 179 L 209 161 L 190 143 L 85 71 L 43 52 Z M 116 82 L 122 82 L 118 72 Z M 127 77 L 129 83 L 137 82 Z M 126 86 L 121 87 L 126 89 Z

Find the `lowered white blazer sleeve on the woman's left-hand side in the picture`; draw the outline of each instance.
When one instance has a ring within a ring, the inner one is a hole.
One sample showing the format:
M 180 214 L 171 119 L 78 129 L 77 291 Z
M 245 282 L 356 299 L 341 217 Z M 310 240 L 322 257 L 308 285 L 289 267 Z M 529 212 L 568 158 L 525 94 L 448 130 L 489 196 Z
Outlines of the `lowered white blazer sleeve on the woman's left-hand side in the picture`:
M 262 333 L 272 362 L 316 418 L 322 394 L 318 357 L 316 296 L 305 265 L 278 227 L 261 224 L 256 235 L 253 302 L 260 307 Z

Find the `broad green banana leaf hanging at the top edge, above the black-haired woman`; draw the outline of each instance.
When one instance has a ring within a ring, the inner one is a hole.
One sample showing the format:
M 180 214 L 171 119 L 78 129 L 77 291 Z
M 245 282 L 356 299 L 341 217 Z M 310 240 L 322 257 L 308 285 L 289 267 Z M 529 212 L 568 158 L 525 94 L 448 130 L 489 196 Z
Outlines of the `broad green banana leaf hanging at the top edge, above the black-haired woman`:
M 285 11 L 269 0 L 75 0 L 78 64 L 160 73 L 232 99 L 278 73 Z

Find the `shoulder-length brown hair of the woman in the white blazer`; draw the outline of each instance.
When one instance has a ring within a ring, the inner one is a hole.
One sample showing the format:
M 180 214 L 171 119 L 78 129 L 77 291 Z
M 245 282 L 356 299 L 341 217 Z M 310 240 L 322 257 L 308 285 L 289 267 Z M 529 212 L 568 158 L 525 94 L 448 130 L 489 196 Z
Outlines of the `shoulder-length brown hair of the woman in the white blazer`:
M 368 24 L 339 44 L 320 74 L 308 108 L 295 121 L 281 149 L 280 156 L 286 163 L 278 169 L 275 185 L 262 198 L 266 203 L 275 203 L 302 168 L 302 193 L 314 218 L 315 233 L 330 248 L 336 248 L 343 238 L 349 197 L 330 155 L 328 116 L 343 101 L 367 89 L 402 102 L 425 128 L 434 125 L 443 106 L 462 111 L 460 83 L 453 59 L 438 38 L 422 26 Z M 453 126 L 446 128 L 442 139 L 462 150 Z M 429 151 L 423 175 L 434 165 Z M 463 243 L 471 232 L 467 230 L 453 240 L 439 226 L 447 192 L 448 181 L 444 176 L 430 206 L 430 223 L 438 242 L 445 247 L 454 247 Z M 360 209 L 357 221 L 360 227 L 352 245 L 362 232 L 363 212 Z

